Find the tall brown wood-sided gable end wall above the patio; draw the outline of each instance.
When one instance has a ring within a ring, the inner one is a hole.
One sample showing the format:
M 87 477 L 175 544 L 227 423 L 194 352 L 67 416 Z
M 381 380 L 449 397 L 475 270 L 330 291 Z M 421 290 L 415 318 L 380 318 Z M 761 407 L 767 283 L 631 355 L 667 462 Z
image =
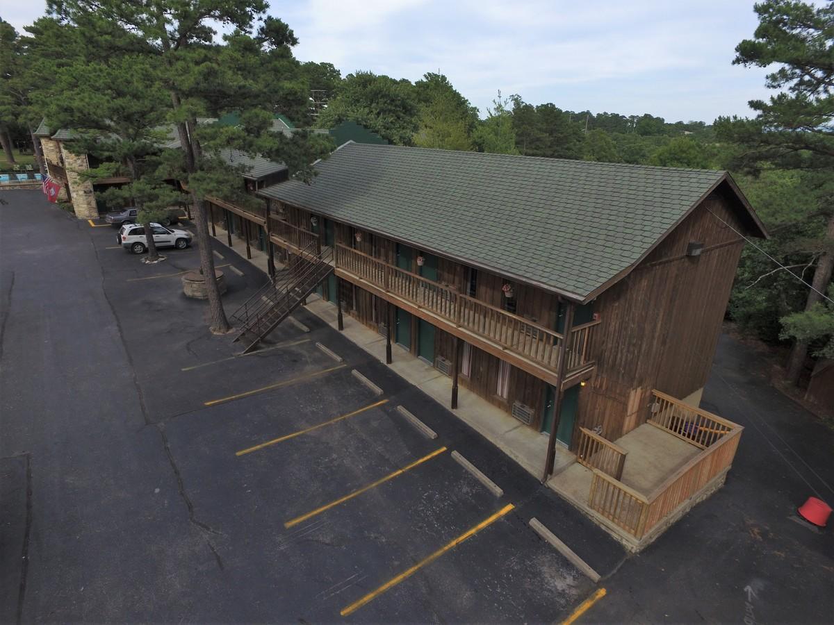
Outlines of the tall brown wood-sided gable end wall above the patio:
M 577 426 L 601 426 L 614 440 L 646 421 L 652 388 L 685 398 L 706 384 L 743 247 L 710 210 L 745 232 L 731 199 L 716 191 L 597 298 L 597 370 L 580 393 Z M 690 242 L 704 244 L 701 256 L 686 256 Z

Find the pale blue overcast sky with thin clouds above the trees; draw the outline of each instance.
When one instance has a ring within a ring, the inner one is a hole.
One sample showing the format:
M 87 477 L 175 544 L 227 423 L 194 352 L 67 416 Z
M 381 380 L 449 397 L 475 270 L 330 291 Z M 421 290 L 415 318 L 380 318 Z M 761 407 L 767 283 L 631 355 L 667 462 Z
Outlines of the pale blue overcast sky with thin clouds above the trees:
M 440 71 L 482 114 L 498 90 L 575 111 L 667 121 L 747 115 L 760 69 L 731 65 L 756 28 L 754 0 L 293 0 L 271 14 L 295 56 L 419 79 Z M 21 29 L 43 0 L 0 0 Z

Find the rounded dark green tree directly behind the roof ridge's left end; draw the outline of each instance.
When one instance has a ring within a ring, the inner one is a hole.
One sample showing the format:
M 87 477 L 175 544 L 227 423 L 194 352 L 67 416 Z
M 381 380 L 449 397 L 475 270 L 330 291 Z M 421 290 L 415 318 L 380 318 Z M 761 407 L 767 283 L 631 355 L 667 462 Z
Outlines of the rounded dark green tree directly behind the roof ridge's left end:
M 391 143 L 412 145 L 419 129 L 414 85 L 372 72 L 348 74 L 316 125 L 333 128 L 346 121 L 356 122 Z

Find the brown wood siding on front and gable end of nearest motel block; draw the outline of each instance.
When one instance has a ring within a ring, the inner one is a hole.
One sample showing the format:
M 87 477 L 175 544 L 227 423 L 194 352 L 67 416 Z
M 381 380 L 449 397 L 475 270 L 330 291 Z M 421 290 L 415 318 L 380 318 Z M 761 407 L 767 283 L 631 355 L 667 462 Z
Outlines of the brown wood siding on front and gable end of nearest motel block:
M 745 232 L 746 226 L 731 208 L 733 202 L 726 190 L 711 193 L 639 267 L 593 303 L 593 310 L 601 319 L 595 328 L 590 353 L 590 358 L 597 362 L 597 370 L 580 391 L 571 448 L 575 448 L 580 426 L 589 429 L 601 426 L 602 435 L 613 440 L 643 423 L 653 388 L 684 398 L 706 383 L 743 245 L 741 238 L 709 211 Z M 273 210 L 278 206 L 279 203 L 272 202 Z M 289 223 L 311 228 L 311 213 L 284 205 L 284 214 Z M 320 217 L 317 229 L 324 236 L 324 219 Z M 335 242 L 387 263 L 396 263 L 395 241 L 363 231 L 362 240 L 357 242 L 355 232 L 354 228 L 337 223 Z M 691 242 L 703 243 L 701 256 L 686 256 Z M 418 273 L 416 263 L 410 269 Z M 438 282 L 461 293 L 470 293 L 471 268 L 440 258 L 437 270 Z M 345 280 L 339 282 L 345 313 L 375 331 L 379 331 L 380 323 L 388 323 L 381 298 Z M 506 282 L 500 275 L 478 270 L 475 298 L 504 308 L 501 287 Z M 547 328 L 557 328 L 558 296 L 525 284 L 512 284 L 516 314 Z M 325 297 L 329 298 L 326 284 L 324 289 Z M 411 332 L 414 354 L 417 353 L 416 325 L 414 320 Z M 435 357 L 453 360 L 453 345 L 451 335 L 438 328 Z M 511 368 L 508 398 L 500 398 L 496 393 L 500 359 L 474 347 L 471 352 L 470 376 L 461 375 L 460 384 L 507 411 L 516 401 L 533 408 L 535 418 L 530 427 L 539 429 L 546 383 Z

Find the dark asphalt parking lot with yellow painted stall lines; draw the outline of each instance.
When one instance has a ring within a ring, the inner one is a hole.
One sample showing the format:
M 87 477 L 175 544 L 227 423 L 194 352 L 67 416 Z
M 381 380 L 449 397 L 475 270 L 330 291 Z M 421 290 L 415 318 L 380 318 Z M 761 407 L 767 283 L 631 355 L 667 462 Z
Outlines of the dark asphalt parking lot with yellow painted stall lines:
M 0 617 L 555 622 L 596 585 L 531 517 L 603 575 L 624 559 L 303 309 L 294 317 L 309 332 L 284 323 L 239 356 L 234 335 L 208 333 L 203 303 L 181 293 L 196 249 L 144 265 L 115 228 L 78 222 L 39 193 L 3 198 L 0 468 L 13 485 L 0 493 L 10 502 L 0 545 L 23 557 L 0 557 L 0 597 L 14 599 Z M 265 277 L 214 245 L 230 313 Z

